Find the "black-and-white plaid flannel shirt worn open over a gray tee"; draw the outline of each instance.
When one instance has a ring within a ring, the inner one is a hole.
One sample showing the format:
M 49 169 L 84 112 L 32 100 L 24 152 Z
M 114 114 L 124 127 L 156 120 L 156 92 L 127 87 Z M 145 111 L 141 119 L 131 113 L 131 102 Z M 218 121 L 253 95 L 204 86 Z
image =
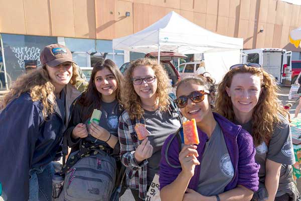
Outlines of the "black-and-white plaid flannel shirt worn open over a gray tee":
M 120 160 L 126 167 L 126 185 L 131 189 L 139 189 L 139 197 L 144 199 L 147 190 L 147 159 L 137 164 L 134 158 L 139 141 L 135 132 L 136 123 L 145 125 L 144 119 L 131 120 L 124 111 L 119 118 L 118 139 L 120 143 Z

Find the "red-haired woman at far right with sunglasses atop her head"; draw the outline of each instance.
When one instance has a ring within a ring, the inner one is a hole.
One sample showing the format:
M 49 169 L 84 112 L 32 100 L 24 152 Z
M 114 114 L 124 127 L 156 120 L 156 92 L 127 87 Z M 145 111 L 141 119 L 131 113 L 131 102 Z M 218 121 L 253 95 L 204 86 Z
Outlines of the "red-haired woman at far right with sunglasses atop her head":
M 275 80 L 258 64 L 231 66 L 218 87 L 216 111 L 253 137 L 260 165 L 254 200 L 300 200 L 292 180 L 289 122 L 277 91 Z

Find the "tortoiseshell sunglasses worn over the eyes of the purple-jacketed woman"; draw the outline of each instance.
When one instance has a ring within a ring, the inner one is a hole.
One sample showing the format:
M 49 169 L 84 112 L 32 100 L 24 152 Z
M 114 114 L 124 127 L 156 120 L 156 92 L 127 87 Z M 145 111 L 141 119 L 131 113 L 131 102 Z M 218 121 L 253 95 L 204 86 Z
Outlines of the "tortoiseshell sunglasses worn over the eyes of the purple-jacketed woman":
M 190 98 L 194 103 L 200 103 L 204 100 L 205 94 L 210 94 L 208 90 L 193 91 L 189 95 L 182 95 L 175 100 L 178 108 L 185 108 Z

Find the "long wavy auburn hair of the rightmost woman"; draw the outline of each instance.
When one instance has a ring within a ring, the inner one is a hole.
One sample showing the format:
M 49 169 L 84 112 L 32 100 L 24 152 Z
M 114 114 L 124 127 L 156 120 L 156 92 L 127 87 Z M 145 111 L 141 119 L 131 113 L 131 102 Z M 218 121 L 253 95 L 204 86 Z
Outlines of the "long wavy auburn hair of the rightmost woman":
M 232 78 L 237 73 L 250 73 L 260 77 L 261 93 L 258 103 L 254 107 L 252 114 L 252 136 L 255 146 L 262 142 L 266 144 L 273 133 L 275 123 L 280 123 L 279 114 L 286 116 L 283 107 L 277 97 L 279 87 L 276 85 L 274 78 L 260 68 L 244 65 L 241 68 L 234 68 L 226 73 L 218 86 L 218 95 L 216 101 L 216 112 L 230 121 L 235 120 L 231 97 L 228 96 L 226 87 L 230 87 Z

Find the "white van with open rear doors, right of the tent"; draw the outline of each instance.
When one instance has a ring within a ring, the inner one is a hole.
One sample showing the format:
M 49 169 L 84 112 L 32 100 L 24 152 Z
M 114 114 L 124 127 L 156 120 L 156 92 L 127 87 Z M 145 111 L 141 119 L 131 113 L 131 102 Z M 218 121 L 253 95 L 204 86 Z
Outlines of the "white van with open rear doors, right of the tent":
M 258 63 L 277 80 L 278 84 L 291 82 L 291 52 L 279 48 L 243 50 L 243 63 Z

